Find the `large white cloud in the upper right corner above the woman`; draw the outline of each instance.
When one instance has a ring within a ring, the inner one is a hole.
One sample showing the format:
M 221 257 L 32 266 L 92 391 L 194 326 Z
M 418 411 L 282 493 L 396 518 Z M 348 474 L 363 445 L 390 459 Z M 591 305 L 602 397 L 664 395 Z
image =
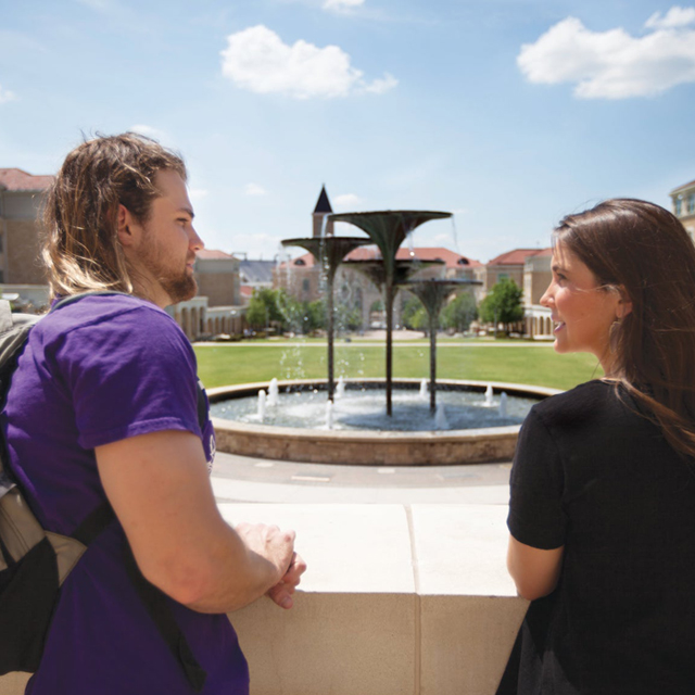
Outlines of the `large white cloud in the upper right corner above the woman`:
M 695 30 L 685 28 L 690 10 L 671 8 L 662 20 L 653 15 L 647 27 L 653 30 L 636 38 L 622 28 L 591 31 L 567 17 L 535 43 L 523 45 L 517 65 L 531 83 L 576 84 L 580 99 L 658 94 L 695 81 Z

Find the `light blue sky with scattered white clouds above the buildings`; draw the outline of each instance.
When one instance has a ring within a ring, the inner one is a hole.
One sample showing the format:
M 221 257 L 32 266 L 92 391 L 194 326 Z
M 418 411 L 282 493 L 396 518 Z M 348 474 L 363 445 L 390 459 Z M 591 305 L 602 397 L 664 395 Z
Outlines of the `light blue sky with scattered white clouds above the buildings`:
M 274 258 L 336 212 L 434 210 L 483 263 L 695 179 L 695 7 L 659 0 L 0 0 L 0 167 L 84 138 L 180 152 L 208 249 Z M 338 233 L 359 235 L 341 226 Z M 303 253 L 292 250 L 293 255 Z

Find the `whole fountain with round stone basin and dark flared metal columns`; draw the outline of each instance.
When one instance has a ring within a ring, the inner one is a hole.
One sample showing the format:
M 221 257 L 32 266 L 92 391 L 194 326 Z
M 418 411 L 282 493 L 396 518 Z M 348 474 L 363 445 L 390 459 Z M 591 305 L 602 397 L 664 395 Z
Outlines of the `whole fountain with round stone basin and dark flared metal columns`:
M 323 380 L 210 389 L 219 451 L 269 459 L 372 466 L 509 460 L 526 413 L 519 408 L 528 409 L 531 402 L 557 391 L 523 384 L 437 381 L 437 316 L 446 296 L 459 286 L 471 281 L 414 280 L 414 274 L 427 264 L 413 258 L 396 258 L 396 252 L 417 226 L 430 219 L 446 217 L 451 217 L 451 214 L 428 211 L 326 214 L 320 228 L 315 217 L 313 238 L 288 239 L 282 242 L 285 245 L 306 249 L 326 270 L 329 307 L 328 400 L 321 391 Z M 331 227 L 334 222 L 353 224 L 366 231 L 368 238 L 332 236 Z M 378 247 L 380 258 L 361 262 L 345 260 L 352 250 L 370 242 Z M 334 275 L 341 263 L 350 264 L 367 275 L 384 294 L 386 414 L 380 405 L 383 396 L 376 392 L 378 388 L 383 388 L 384 380 L 341 377 L 338 388 L 334 384 L 332 293 Z M 429 414 L 422 413 L 422 401 L 427 401 L 428 396 L 426 380 L 393 380 L 393 305 L 399 289 L 404 285 L 420 296 L 430 317 Z M 400 393 L 395 413 L 393 387 Z M 266 389 L 268 394 L 273 394 L 269 395 L 267 405 L 277 403 L 277 406 L 266 408 L 266 403 L 262 403 L 265 401 Z M 277 399 L 276 389 L 279 392 Z M 498 409 L 491 407 L 493 389 L 500 393 L 506 392 Z M 257 414 L 252 413 L 244 419 L 224 413 L 228 407 L 227 403 L 242 403 L 243 397 L 255 397 L 255 394 L 258 394 Z M 520 399 L 531 401 L 520 405 Z M 295 416 L 299 417 L 293 419 Z M 223 417 L 230 419 L 222 419 Z M 264 424 L 258 425 L 258 419 Z

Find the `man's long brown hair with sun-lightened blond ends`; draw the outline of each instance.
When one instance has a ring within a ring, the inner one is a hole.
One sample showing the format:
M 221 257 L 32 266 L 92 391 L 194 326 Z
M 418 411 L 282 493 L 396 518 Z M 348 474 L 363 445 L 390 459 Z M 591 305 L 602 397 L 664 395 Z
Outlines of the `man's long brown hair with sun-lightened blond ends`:
M 173 169 L 186 180 L 181 157 L 134 132 L 83 142 L 65 157 L 48 191 L 41 255 L 53 296 L 92 290 L 132 292 L 117 238 L 118 205 L 141 223 L 162 193 L 154 177 Z

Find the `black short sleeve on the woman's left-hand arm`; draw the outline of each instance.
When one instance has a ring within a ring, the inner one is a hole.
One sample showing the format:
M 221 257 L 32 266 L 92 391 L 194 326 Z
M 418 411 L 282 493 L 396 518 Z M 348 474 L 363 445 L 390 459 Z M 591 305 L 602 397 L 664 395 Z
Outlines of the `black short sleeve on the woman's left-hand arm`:
M 531 409 L 517 443 L 507 526 L 526 545 L 553 549 L 565 544 L 567 516 L 563 508 L 560 456 L 547 428 Z

